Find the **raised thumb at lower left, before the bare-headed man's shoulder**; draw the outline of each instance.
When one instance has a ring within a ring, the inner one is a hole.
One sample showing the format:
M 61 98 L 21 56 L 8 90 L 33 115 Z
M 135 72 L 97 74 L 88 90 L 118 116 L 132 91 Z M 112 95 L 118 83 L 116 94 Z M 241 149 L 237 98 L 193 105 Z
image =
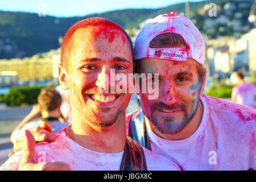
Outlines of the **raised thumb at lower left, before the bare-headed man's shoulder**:
M 30 131 L 25 130 L 23 133 L 24 146 L 22 159 L 20 161 L 20 166 L 26 163 L 36 163 L 35 159 L 35 139 Z

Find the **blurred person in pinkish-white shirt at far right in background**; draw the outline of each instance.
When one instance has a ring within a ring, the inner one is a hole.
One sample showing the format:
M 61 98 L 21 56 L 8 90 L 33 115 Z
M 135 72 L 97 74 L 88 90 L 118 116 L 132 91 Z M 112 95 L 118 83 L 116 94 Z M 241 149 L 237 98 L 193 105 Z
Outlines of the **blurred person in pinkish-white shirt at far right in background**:
M 256 86 L 246 83 L 243 80 L 243 73 L 236 73 L 236 84 L 232 89 L 231 100 L 237 104 L 241 104 L 255 109 Z

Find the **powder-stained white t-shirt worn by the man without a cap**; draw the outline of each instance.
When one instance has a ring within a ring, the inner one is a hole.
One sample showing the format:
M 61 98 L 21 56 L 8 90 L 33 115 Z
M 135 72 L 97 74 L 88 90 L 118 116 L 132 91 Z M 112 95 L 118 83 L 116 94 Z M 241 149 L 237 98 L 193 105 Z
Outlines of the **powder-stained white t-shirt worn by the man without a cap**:
M 36 144 L 35 156 L 37 162 L 59 161 L 68 163 L 76 171 L 118 171 L 121 165 L 123 151 L 119 153 L 102 153 L 88 150 L 67 136 L 65 130 L 55 134 L 55 142 Z M 147 169 L 180 170 L 171 160 L 143 148 Z M 13 154 L 0 170 L 18 170 L 22 151 Z

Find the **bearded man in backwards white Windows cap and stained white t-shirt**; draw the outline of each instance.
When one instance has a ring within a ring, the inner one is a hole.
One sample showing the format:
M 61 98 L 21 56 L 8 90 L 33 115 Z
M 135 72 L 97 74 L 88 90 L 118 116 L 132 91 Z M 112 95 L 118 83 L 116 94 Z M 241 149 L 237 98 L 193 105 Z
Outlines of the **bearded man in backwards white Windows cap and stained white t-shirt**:
M 204 40 L 189 19 L 172 12 L 148 20 L 134 59 L 135 72 L 159 74 L 159 97 L 149 100 L 154 93 L 140 84 L 142 110 L 126 117 L 130 137 L 183 170 L 255 169 L 256 113 L 203 94 Z

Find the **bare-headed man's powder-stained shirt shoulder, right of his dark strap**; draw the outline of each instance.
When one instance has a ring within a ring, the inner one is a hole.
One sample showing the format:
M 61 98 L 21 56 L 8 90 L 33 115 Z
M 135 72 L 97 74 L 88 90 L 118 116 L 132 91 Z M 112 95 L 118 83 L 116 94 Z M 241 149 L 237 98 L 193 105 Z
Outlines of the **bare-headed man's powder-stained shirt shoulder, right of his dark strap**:
M 148 171 L 180 171 L 180 167 L 177 166 L 171 159 L 167 159 L 162 155 L 156 154 L 147 148 L 143 148 L 146 158 Z

